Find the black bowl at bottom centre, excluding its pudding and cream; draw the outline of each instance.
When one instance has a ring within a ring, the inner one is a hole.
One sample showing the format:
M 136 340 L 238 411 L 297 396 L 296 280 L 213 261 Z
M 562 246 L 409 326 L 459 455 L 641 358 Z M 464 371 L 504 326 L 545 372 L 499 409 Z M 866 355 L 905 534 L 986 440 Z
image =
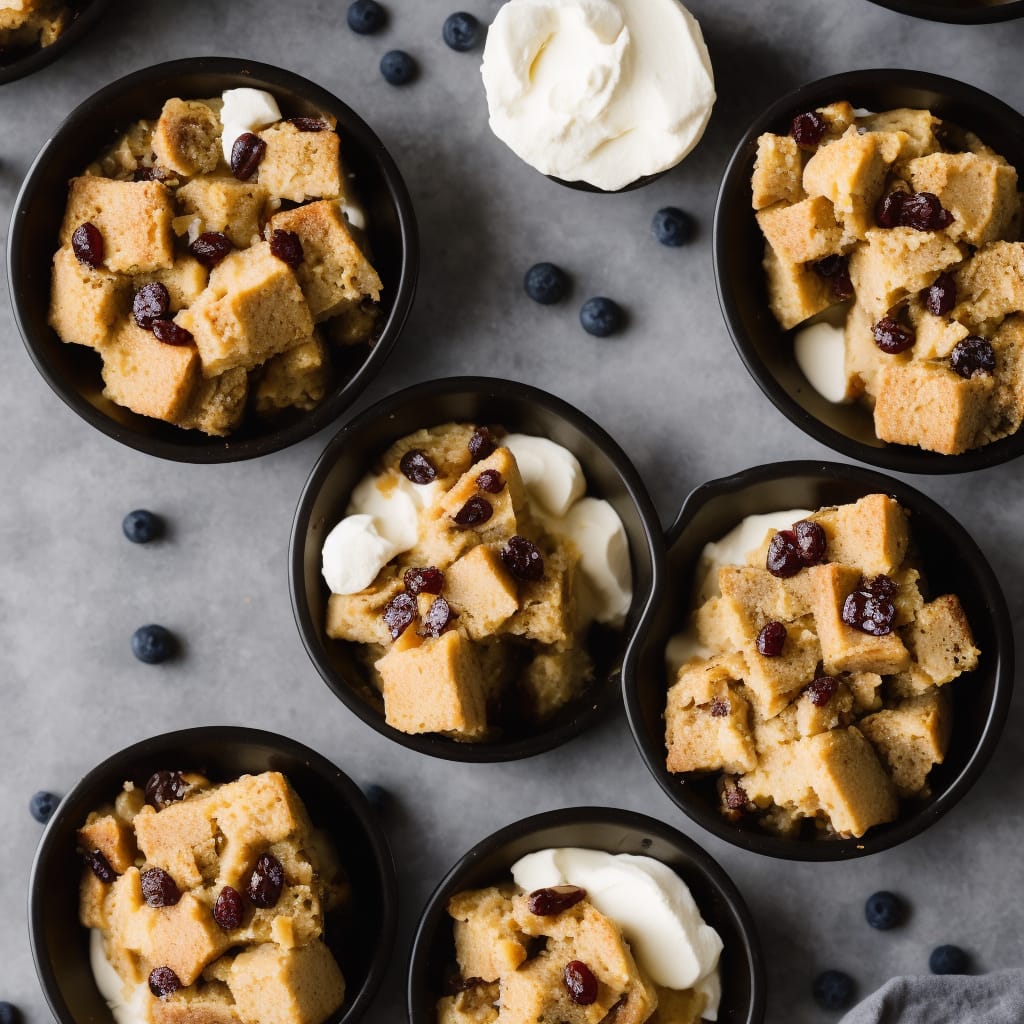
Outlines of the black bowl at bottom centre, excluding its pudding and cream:
M 434 891 L 413 943 L 410 1024 L 434 1024 L 436 1002 L 455 962 L 449 898 L 464 889 L 511 882 L 520 858 L 550 847 L 575 846 L 653 857 L 689 887 L 703 920 L 722 937 L 719 1024 L 760 1024 L 765 979 L 757 930 L 742 896 L 718 863 L 691 839 L 662 821 L 609 807 L 573 807 L 524 818 L 477 843 Z

